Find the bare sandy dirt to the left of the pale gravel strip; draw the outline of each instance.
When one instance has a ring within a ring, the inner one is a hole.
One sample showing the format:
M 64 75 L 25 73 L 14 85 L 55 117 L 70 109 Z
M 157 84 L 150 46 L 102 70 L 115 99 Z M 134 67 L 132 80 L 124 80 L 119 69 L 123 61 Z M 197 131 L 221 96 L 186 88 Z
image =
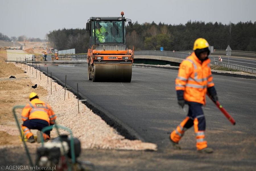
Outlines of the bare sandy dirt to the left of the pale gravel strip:
M 28 92 L 33 91 L 33 84 L 24 71 L 13 63 L 0 61 L 0 145 L 19 145 L 18 129 L 12 113 L 15 105 L 28 103 Z M 15 78 L 9 78 L 15 76 Z M 39 86 L 38 94 L 47 91 Z M 21 110 L 18 110 L 20 113 Z

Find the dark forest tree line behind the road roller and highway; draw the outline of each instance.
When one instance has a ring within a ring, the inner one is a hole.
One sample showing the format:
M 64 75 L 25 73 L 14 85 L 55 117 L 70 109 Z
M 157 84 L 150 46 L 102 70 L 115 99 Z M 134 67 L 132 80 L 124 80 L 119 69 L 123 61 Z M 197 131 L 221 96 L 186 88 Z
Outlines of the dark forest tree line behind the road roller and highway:
M 89 48 L 88 32 L 85 29 L 53 30 L 47 34 L 50 44 L 58 50 L 75 48 L 76 53 L 86 53 Z M 188 21 L 186 24 L 164 23 L 139 24 L 126 27 L 126 41 L 135 50 L 192 50 L 195 39 L 205 38 L 214 49 L 256 51 L 256 21 L 239 23 L 205 23 Z

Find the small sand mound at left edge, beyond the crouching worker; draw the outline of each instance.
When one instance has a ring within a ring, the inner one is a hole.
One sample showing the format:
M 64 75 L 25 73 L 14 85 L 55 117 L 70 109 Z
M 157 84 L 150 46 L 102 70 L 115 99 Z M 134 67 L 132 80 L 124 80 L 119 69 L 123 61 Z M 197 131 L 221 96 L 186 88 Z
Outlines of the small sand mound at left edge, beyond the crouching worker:
M 13 63 L 6 63 L 5 61 L 0 60 L 0 77 L 6 77 L 20 73 L 24 73 L 24 71 L 16 67 Z

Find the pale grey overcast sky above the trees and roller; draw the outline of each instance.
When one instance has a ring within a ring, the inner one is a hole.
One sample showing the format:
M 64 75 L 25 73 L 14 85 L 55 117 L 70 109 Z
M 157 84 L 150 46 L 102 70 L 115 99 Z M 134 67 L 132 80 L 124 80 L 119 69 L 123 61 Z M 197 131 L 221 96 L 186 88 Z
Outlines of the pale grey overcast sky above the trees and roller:
M 0 32 L 45 39 L 49 31 L 84 28 L 94 16 L 120 16 L 138 23 L 256 21 L 256 0 L 0 0 Z

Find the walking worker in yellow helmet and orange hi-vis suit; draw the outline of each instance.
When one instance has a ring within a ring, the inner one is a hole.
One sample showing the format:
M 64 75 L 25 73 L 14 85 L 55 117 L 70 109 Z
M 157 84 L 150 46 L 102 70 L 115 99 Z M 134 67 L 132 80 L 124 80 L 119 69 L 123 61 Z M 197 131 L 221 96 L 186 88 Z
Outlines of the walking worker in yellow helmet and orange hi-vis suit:
M 170 140 L 175 149 L 184 132 L 194 125 L 196 133 L 196 147 L 199 152 L 211 153 L 212 148 L 207 147 L 205 140 L 205 116 L 202 105 L 205 105 L 205 95 L 208 92 L 214 101 L 218 100 L 208 55 L 209 44 L 204 38 L 195 40 L 194 52 L 183 60 L 179 67 L 179 73 L 175 80 L 178 104 L 183 108 L 189 105 L 187 117 L 170 134 Z

